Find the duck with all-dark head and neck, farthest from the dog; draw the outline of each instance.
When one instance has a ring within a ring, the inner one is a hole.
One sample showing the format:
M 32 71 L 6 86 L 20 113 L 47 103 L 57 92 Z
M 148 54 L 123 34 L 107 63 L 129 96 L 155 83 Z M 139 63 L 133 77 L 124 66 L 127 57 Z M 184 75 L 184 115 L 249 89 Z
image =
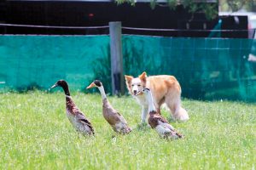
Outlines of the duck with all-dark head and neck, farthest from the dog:
M 91 122 L 84 116 L 84 113 L 79 110 L 77 105 L 73 102 L 70 95 L 68 84 L 65 80 L 59 80 L 50 88 L 61 87 L 66 94 L 66 111 L 69 122 L 73 125 L 78 133 L 85 135 L 94 135 L 94 128 Z

